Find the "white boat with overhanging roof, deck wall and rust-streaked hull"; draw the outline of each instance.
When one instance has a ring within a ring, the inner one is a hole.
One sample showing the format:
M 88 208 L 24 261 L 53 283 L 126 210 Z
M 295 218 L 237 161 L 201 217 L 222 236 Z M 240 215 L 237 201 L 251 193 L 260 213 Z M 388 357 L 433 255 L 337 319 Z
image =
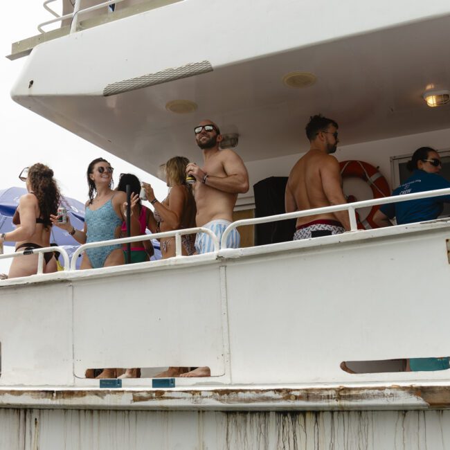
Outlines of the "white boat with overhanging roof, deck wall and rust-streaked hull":
M 423 99 L 450 82 L 447 1 L 122 3 L 65 18 L 12 98 L 152 173 L 201 159 L 205 117 L 237 135 L 251 185 L 289 173 L 317 112 L 339 122 L 338 159 L 391 187 L 415 148 L 449 154 L 449 106 Z M 374 202 L 342 206 L 343 235 L 1 281 L 3 447 L 449 448 L 449 370 L 404 364 L 450 355 L 450 220 L 357 231 Z M 168 366 L 211 376 L 155 384 Z M 104 388 L 84 377 L 100 367 L 147 375 Z

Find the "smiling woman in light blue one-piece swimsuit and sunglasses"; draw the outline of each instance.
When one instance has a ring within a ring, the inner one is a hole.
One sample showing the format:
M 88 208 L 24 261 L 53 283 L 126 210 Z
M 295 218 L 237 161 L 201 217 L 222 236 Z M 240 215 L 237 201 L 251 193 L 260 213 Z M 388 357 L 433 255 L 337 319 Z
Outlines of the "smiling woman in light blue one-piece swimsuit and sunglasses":
M 85 205 L 83 230 L 75 229 L 69 218 L 66 224 L 61 224 L 57 222 L 57 216 L 51 216 L 55 226 L 68 231 L 69 235 L 73 236 L 80 244 L 120 237 L 120 227 L 126 219 L 127 195 L 125 192 L 111 189 L 113 170 L 106 159 L 94 159 L 89 164 L 87 168 L 89 200 Z M 138 234 L 140 228 L 137 219 L 138 213 L 134 214 L 138 198 L 139 193 L 134 192 L 132 194 L 132 234 Z M 80 269 L 118 266 L 124 262 L 122 246 L 111 244 L 87 249 L 84 252 Z

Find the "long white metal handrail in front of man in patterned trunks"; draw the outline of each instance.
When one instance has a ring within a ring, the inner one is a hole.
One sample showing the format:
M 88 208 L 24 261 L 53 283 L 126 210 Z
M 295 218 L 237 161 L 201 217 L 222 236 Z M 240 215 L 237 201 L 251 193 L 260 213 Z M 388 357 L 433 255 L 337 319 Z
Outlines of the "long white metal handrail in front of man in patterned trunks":
M 366 206 L 384 205 L 387 203 L 397 203 L 399 201 L 408 201 L 415 199 L 424 199 L 426 197 L 440 197 L 442 195 L 450 195 L 450 188 L 427 190 L 424 192 L 415 192 L 414 194 L 395 195 L 393 197 L 381 197 L 379 199 L 370 199 L 363 201 L 355 201 L 354 203 L 345 203 L 334 206 L 324 206 L 323 208 L 306 209 L 301 211 L 294 211 L 294 213 L 284 213 L 277 215 L 269 215 L 265 217 L 255 217 L 253 219 L 241 219 L 229 224 L 220 242 L 220 248 L 226 249 L 226 238 L 237 226 L 265 224 L 267 222 L 279 222 L 280 220 L 296 219 L 298 217 L 305 217 L 309 215 L 317 215 L 322 213 L 335 213 L 336 211 L 348 210 L 350 218 L 350 231 L 357 231 L 357 216 L 356 210 L 359 208 L 366 208 Z

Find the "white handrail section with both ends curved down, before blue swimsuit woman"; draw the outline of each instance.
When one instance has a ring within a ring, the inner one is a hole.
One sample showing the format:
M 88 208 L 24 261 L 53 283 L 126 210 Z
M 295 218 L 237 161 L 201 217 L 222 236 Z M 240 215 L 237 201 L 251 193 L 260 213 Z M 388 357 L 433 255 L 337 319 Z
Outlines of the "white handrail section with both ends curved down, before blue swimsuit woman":
M 219 251 L 219 238 L 208 228 L 204 228 L 199 226 L 197 228 L 183 228 L 182 230 L 174 230 L 174 231 L 165 231 L 163 233 L 154 233 L 151 235 L 138 235 L 132 237 L 121 237 L 120 239 L 114 239 L 109 241 L 98 241 L 98 242 L 89 242 L 89 244 L 82 244 L 75 250 L 71 259 L 71 267 L 70 270 L 73 271 L 76 269 L 75 264 L 77 262 L 77 258 L 80 253 L 86 249 L 93 249 L 95 247 L 103 247 L 115 244 L 127 244 L 127 242 L 140 242 L 147 241 L 152 239 L 160 239 L 162 237 L 175 237 L 175 257 L 183 256 L 181 249 L 181 236 L 182 235 L 191 235 L 194 233 L 206 233 L 210 235 L 214 244 L 214 252 L 217 253 Z

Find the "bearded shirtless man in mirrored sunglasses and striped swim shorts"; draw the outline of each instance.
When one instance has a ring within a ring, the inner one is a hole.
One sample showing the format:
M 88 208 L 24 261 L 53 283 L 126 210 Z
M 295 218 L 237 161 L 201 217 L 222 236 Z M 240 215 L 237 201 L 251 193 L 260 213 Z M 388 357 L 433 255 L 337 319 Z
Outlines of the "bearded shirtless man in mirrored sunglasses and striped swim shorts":
M 197 226 L 209 228 L 219 241 L 225 228 L 233 222 L 233 208 L 237 194 L 249 190 L 249 174 L 244 162 L 233 150 L 220 150 L 222 141 L 219 127 L 212 120 L 202 120 L 195 127 L 195 141 L 203 150 L 203 167 L 189 163 L 186 174 L 195 177 L 195 204 L 197 205 Z M 240 246 L 237 230 L 228 235 L 228 248 Z M 197 253 L 213 251 L 213 242 L 206 233 L 197 233 Z

